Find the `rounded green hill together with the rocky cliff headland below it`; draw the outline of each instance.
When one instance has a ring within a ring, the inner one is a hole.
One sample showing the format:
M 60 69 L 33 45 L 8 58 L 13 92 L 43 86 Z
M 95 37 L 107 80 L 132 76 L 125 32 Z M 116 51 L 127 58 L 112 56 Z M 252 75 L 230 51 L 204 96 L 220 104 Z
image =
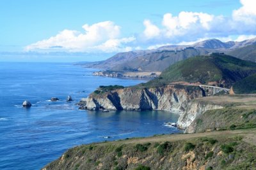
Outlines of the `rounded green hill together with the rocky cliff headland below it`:
M 236 81 L 253 73 L 256 73 L 255 62 L 228 55 L 212 53 L 191 57 L 173 64 L 147 83 L 122 89 L 99 88 L 83 99 L 81 108 L 184 111 L 191 100 L 205 96 L 204 90 L 195 84 L 230 88 Z

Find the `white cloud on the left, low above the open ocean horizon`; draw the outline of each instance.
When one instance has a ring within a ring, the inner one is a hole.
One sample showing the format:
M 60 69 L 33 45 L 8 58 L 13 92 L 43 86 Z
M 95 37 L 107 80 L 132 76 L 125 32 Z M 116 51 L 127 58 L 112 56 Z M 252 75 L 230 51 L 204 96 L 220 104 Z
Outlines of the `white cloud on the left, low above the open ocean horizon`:
M 124 46 L 134 37 L 121 38 L 120 26 L 111 21 L 83 25 L 84 32 L 65 29 L 56 36 L 26 46 L 27 51 L 63 50 L 67 52 L 119 52 L 131 50 Z

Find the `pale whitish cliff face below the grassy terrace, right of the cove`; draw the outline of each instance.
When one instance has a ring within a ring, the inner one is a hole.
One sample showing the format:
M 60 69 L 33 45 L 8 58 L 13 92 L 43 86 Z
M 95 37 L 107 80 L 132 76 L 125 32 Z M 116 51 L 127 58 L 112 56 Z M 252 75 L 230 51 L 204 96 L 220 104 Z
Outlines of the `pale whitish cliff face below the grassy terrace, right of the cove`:
M 195 132 L 191 123 L 195 120 L 196 117 L 199 117 L 207 110 L 216 110 L 223 108 L 218 104 L 211 104 L 211 103 L 202 103 L 200 101 L 193 101 L 189 103 L 188 108 L 184 111 L 177 122 L 177 125 L 180 129 L 186 129 L 185 132 L 193 133 Z

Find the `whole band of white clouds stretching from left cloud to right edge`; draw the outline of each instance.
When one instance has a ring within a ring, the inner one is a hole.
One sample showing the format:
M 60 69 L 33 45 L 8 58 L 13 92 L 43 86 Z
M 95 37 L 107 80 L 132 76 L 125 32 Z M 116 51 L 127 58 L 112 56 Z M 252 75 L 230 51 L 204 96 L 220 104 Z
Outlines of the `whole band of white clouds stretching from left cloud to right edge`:
M 188 44 L 208 38 L 222 41 L 243 41 L 256 37 L 256 1 L 240 0 L 241 7 L 231 17 L 202 12 L 180 11 L 163 15 L 160 25 L 144 20 L 143 32 L 122 37 L 121 27 L 105 21 L 83 25 L 83 32 L 65 29 L 56 36 L 26 46 L 26 51 L 64 52 L 127 52 L 143 48 L 156 48 L 169 44 Z

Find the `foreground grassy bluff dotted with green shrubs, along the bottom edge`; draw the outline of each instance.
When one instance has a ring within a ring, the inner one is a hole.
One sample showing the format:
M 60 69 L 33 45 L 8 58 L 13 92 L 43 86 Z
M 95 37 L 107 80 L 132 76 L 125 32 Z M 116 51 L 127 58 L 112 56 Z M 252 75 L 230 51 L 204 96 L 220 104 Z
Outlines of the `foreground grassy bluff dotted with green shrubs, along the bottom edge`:
M 175 134 L 76 146 L 46 169 L 253 169 L 256 129 Z

